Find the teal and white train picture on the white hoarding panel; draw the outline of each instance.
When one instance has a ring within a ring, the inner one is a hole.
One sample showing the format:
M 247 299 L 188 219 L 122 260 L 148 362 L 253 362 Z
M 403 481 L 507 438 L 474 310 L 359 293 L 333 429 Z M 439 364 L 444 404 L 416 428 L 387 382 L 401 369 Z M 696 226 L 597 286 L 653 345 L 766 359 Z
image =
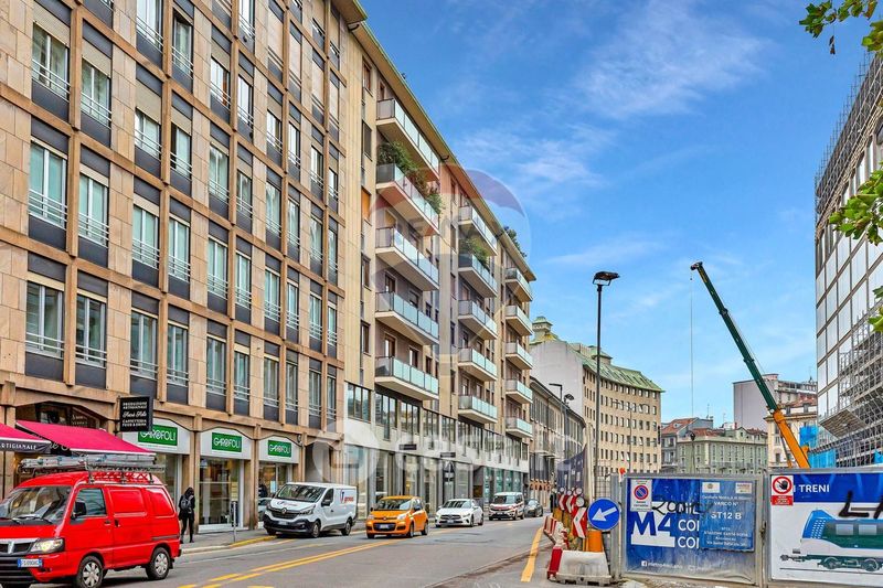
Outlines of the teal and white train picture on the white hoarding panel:
M 816 562 L 827 569 L 876 571 L 883 567 L 883 520 L 836 518 L 812 511 L 804 526 L 800 548 L 783 562 Z

